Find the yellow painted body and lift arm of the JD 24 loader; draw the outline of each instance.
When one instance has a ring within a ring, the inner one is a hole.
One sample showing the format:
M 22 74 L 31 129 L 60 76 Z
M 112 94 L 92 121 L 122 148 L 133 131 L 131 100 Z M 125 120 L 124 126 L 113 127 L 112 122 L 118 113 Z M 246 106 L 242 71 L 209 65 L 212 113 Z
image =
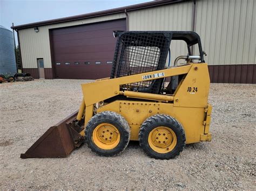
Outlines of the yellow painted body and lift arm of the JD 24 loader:
M 131 140 L 138 140 L 139 128 L 152 115 L 166 114 L 176 118 L 186 134 L 186 143 L 210 141 L 209 132 L 212 107 L 207 103 L 210 88 L 210 77 L 206 63 L 191 63 L 185 66 L 158 70 L 164 76 L 186 74 L 179 83 L 173 95 L 149 95 L 146 93 L 120 91 L 120 85 L 146 81 L 143 76 L 154 72 L 119 77 L 116 79 L 101 79 L 96 82 L 82 84 L 85 105 L 85 126 L 91 117 L 102 111 L 114 111 L 122 115 L 131 127 Z M 148 80 L 148 79 L 147 79 Z M 152 80 L 152 79 L 150 79 Z M 111 103 L 102 101 L 116 95 L 143 98 L 148 101 L 116 100 Z M 166 99 L 164 98 L 166 97 Z M 98 104 L 100 103 L 100 104 Z M 99 105 L 99 106 L 97 106 Z M 97 106 L 97 107 L 96 107 Z M 80 108 L 84 108 L 81 106 Z M 79 110 L 78 116 L 82 116 Z M 80 132 L 84 135 L 84 131 Z

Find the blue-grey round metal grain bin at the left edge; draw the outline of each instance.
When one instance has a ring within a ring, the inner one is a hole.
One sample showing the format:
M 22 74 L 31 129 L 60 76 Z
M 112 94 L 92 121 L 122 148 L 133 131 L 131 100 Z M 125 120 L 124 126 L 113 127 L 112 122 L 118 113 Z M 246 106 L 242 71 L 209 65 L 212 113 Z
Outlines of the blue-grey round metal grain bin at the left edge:
M 14 50 L 12 32 L 0 25 L 0 74 L 6 77 L 17 73 Z

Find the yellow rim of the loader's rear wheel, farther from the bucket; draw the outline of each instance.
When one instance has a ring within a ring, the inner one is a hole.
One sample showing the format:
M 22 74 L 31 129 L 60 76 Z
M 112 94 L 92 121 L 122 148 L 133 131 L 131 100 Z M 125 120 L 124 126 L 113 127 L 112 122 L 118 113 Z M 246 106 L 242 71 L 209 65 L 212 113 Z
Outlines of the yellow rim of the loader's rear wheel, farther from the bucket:
M 148 142 L 152 150 L 157 153 L 167 153 L 176 146 L 177 137 L 170 128 L 158 126 L 150 131 Z

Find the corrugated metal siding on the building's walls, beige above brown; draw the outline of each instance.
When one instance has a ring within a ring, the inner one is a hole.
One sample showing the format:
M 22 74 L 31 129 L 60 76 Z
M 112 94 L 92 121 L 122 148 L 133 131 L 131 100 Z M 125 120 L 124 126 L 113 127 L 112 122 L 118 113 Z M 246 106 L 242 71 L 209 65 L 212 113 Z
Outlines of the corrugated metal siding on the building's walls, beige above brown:
M 212 82 L 221 82 L 223 79 L 223 82 L 255 83 L 256 67 L 249 65 L 256 63 L 256 1 L 197 0 L 196 3 L 196 32 L 207 53 L 205 61 L 217 66 L 209 67 Z M 128 12 L 129 30 L 191 31 L 192 11 L 192 1 L 131 11 Z M 49 29 L 119 18 L 125 18 L 125 14 L 42 26 L 39 27 L 39 33 L 33 29 L 19 31 L 23 67 L 37 68 L 36 58 L 44 58 L 45 67 L 51 68 Z M 171 50 L 171 63 L 177 56 L 187 53 L 184 42 L 173 41 Z M 196 55 L 199 54 L 197 50 L 195 48 Z

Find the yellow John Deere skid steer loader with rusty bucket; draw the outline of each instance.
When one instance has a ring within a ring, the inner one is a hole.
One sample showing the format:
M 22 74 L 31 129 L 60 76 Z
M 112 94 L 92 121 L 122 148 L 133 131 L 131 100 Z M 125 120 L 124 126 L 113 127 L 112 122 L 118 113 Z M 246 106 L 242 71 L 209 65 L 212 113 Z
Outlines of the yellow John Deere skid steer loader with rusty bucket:
M 21 158 L 66 157 L 84 142 L 110 157 L 138 140 L 150 157 L 171 159 L 185 144 L 211 140 L 210 78 L 198 34 L 114 31 L 114 37 L 110 77 L 82 84 L 79 110 L 52 126 Z M 188 52 L 166 67 L 172 40 L 184 40 Z M 199 56 L 191 55 L 194 45 Z M 185 63 L 178 65 L 180 59 Z

